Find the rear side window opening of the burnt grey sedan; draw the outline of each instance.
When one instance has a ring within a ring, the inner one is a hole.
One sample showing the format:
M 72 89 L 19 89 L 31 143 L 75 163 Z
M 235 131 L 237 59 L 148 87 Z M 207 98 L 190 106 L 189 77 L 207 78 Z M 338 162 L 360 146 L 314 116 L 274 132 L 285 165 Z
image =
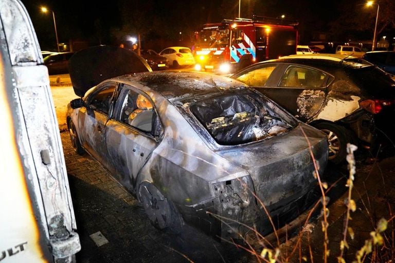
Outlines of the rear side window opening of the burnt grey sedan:
M 154 109 L 145 96 L 129 90 L 122 107 L 122 122 L 145 133 L 152 132 Z

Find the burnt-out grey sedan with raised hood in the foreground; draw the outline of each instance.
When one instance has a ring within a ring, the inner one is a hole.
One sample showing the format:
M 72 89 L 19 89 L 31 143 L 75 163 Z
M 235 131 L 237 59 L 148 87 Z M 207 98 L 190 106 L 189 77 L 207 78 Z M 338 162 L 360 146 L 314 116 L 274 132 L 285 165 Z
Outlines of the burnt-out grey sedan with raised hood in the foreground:
M 322 174 L 326 136 L 272 100 L 204 72 L 114 77 L 107 64 L 95 74 L 83 72 L 92 67 L 73 68 L 88 57 L 95 56 L 76 53 L 70 61 L 71 81 L 82 97 L 68 105 L 71 142 L 135 195 L 158 229 L 179 230 L 187 222 L 227 238 L 249 231 L 243 223 L 271 232 L 256 198 L 276 223 L 292 220 L 316 200 L 310 150 Z M 95 81 L 85 80 L 93 75 Z

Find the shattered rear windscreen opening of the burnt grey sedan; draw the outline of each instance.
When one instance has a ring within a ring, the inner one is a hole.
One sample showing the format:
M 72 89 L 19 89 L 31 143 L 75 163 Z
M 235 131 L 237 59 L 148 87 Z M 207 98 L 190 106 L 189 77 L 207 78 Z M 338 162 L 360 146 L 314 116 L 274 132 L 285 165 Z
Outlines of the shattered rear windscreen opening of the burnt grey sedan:
M 193 104 L 190 109 L 221 145 L 263 140 L 295 125 L 291 119 L 284 121 L 274 105 L 247 94 L 210 98 Z

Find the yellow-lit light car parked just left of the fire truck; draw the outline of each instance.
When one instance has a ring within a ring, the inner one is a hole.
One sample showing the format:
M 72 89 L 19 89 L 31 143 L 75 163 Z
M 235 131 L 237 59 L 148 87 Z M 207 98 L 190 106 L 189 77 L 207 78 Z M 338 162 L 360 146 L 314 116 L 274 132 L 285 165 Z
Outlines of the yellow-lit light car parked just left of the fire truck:
M 159 55 L 166 57 L 174 68 L 195 65 L 192 51 L 188 47 L 168 47 L 160 51 Z

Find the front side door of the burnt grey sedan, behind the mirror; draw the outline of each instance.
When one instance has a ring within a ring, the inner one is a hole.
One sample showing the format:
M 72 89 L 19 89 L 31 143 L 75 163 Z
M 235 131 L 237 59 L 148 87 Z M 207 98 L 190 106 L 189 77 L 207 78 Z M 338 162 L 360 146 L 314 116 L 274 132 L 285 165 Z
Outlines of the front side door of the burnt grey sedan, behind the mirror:
M 104 166 L 108 166 L 105 125 L 113 108 L 115 82 L 104 83 L 85 99 L 78 112 L 78 127 L 84 149 Z

